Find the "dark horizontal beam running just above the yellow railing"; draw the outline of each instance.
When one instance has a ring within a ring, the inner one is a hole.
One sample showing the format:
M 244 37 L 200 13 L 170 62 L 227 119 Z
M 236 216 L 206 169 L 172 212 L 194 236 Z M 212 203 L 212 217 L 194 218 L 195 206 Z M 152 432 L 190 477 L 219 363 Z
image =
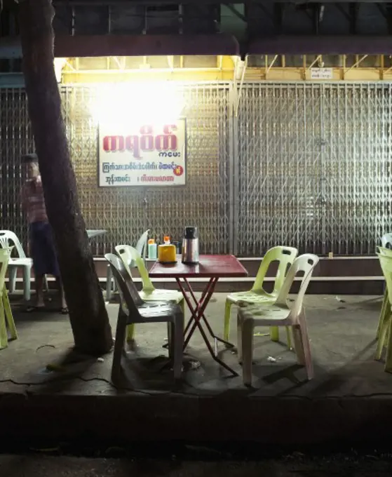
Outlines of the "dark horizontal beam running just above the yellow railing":
M 211 35 L 57 35 L 57 58 L 153 55 L 239 55 L 234 36 Z M 254 39 L 250 55 L 392 55 L 390 36 L 274 36 Z M 20 58 L 18 37 L 0 38 L 0 58 Z

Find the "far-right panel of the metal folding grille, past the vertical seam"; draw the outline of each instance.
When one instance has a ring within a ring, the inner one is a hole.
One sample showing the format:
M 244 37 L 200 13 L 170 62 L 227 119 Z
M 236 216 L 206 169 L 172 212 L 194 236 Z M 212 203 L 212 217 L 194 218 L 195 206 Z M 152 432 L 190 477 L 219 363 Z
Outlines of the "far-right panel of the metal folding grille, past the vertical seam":
M 323 87 L 325 250 L 374 253 L 392 230 L 391 84 Z

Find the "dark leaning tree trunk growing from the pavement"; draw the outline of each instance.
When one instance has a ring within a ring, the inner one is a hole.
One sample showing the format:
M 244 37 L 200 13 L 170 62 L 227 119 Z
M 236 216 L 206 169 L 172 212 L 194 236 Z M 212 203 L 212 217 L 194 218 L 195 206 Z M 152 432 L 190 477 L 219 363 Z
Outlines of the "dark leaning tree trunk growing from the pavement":
M 20 0 L 23 72 L 75 348 L 84 354 L 97 355 L 109 351 L 113 340 L 69 158 L 53 66 L 54 14 L 51 0 Z

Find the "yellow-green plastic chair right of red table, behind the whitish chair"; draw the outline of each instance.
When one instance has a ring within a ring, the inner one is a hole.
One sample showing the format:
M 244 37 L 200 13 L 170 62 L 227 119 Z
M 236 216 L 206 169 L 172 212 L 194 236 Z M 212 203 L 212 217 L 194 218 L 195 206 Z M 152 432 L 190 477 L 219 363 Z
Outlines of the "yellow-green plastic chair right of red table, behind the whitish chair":
M 281 291 L 285 276 L 290 268 L 295 257 L 298 255 L 297 248 L 278 246 L 270 248 L 263 257 L 260 264 L 259 271 L 255 283 L 251 290 L 245 292 L 231 293 L 226 298 L 226 305 L 224 309 L 224 340 L 229 342 L 230 338 L 230 314 L 231 305 L 235 304 L 237 307 L 248 306 L 250 304 L 268 304 L 276 302 L 276 298 Z M 268 293 L 263 288 L 266 271 L 272 262 L 279 262 L 278 271 L 276 273 L 275 283 L 273 285 L 272 293 Z M 286 327 L 288 347 L 291 348 L 290 328 Z M 256 333 L 255 336 L 271 336 L 272 341 L 279 340 L 279 329 L 277 326 L 271 327 L 269 333 Z

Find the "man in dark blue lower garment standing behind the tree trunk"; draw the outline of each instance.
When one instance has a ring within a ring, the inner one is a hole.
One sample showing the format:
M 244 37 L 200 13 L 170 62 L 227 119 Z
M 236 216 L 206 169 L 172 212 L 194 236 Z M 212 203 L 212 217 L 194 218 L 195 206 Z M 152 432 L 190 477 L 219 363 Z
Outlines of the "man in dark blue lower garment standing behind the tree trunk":
M 36 306 L 27 311 L 43 309 L 43 281 L 45 275 L 53 275 L 58 283 L 61 297 L 61 312 L 67 314 L 67 303 L 60 278 L 60 269 L 56 256 L 53 234 L 46 215 L 45 198 L 43 196 L 41 175 L 39 174 L 38 156 L 23 156 L 28 180 L 22 187 L 22 208 L 29 221 L 30 253 L 33 259 L 36 283 Z

